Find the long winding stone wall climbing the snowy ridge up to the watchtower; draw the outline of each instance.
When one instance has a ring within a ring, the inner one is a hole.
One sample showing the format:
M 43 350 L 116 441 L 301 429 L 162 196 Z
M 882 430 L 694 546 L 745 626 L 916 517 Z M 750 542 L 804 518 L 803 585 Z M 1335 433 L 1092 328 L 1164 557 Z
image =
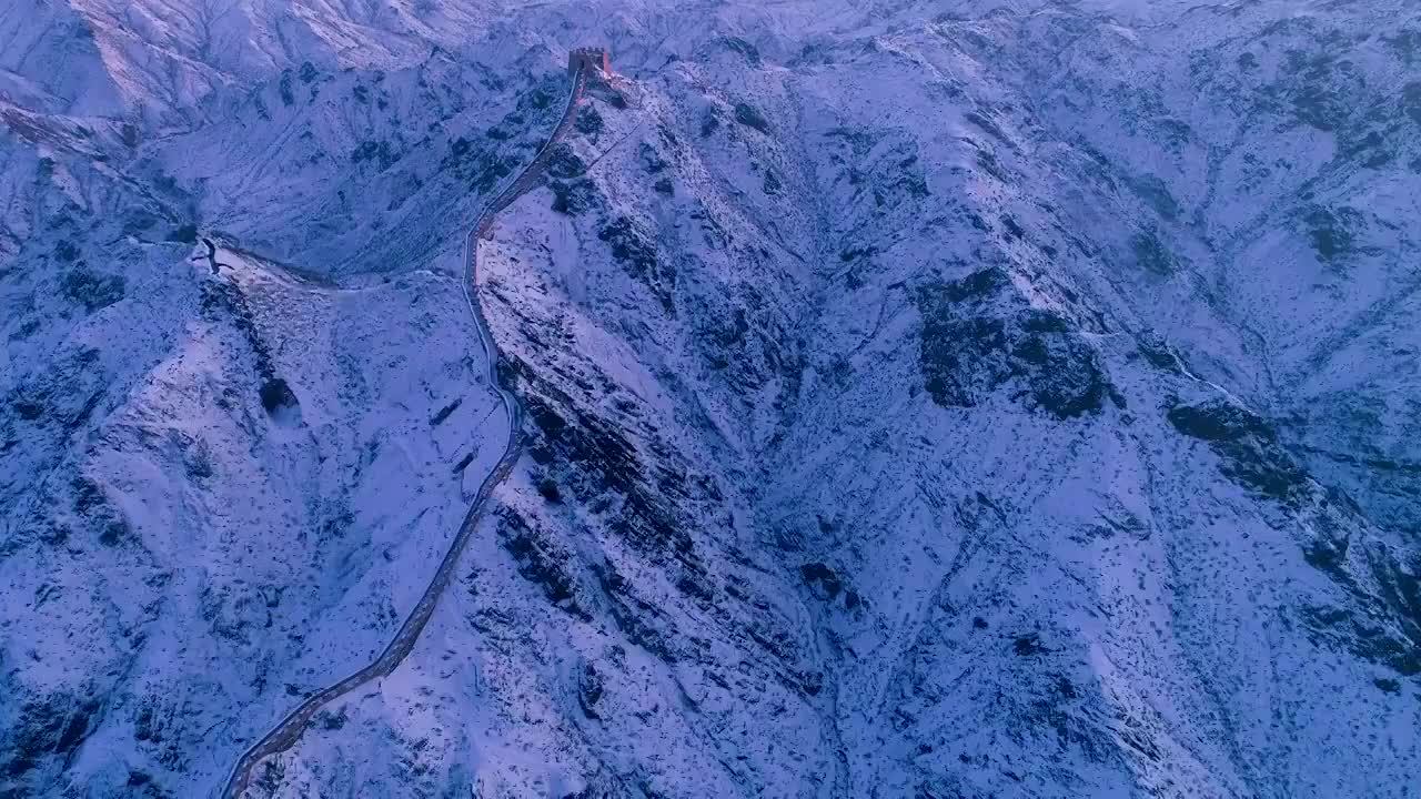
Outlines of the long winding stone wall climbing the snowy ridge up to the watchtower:
M 490 200 L 487 206 L 485 206 L 483 212 L 475 222 L 473 229 L 465 237 L 465 272 L 462 280 L 463 296 L 465 301 L 469 304 L 469 313 L 473 316 L 475 326 L 479 328 L 479 344 L 483 347 L 485 363 L 489 367 L 489 385 L 499 394 L 499 401 L 503 404 L 503 409 L 507 414 L 509 441 L 503 448 L 503 455 L 493 466 L 493 471 L 483 478 L 483 483 L 479 485 L 479 492 L 469 505 L 469 512 L 465 513 L 463 523 L 459 525 L 459 532 L 455 535 L 453 542 L 449 543 L 449 550 L 439 562 L 439 569 L 435 570 L 435 576 L 425 589 L 425 593 L 419 597 L 419 603 L 409 611 L 405 623 L 399 627 L 399 633 L 396 633 L 395 638 L 385 647 L 385 651 L 382 651 L 372 663 L 351 674 L 345 680 L 307 697 L 306 701 L 287 714 L 286 718 L 283 718 L 270 732 L 263 735 L 261 739 L 243 752 L 242 758 L 237 759 L 236 766 L 233 766 L 232 775 L 227 778 L 226 786 L 222 792 L 223 799 L 239 799 L 250 785 L 252 772 L 256 769 L 257 763 L 271 755 L 284 752 L 294 746 L 296 742 L 301 739 L 301 734 L 306 732 L 306 725 L 310 724 L 317 711 L 360 688 L 361 685 L 388 675 L 405 660 L 405 657 L 409 655 L 415 643 L 419 640 L 419 634 L 423 633 L 425 626 L 433 616 L 435 606 L 439 604 L 439 597 L 443 596 L 445 589 L 449 587 L 449 580 L 459 563 L 459 557 L 463 554 L 463 550 L 469 545 L 469 539 L 473 537 L 473 532 L 479 526 L 479 520 L 483 518 L 485 505 L 487 503 L 489 496 L 493 493 L 493 489 L 499 486 L 499 483 L 507 479 L 509 473 L 513 472 L 513 465 L 517 463 L 522 456 L 523 441 L 520 431 L 523 429 L 523 407 L 519 404 L 517 397 L 514 397 L 507 387 L 499 382 L 499 350 L 493 341 L 493 331 L 489 328 L 489 321 L 483 316 L 483 306 L 479 301 L 479 239 L 490 237 L 497 213 L 537 185 L 543 168 L 547 165 L 550 158 L 553 145 L 567 136 L 567 132 L 571 129 L 573 122 L 577 118 L 577 108 L 583 100 L 583 91 L 587 87 L 587 73 L 590 68 L 591 67 L 578 65 L 576 71 L 570 74 L 571 85 L 567 95 L 567 107 L 563 109 L 563 117 L 553 129 L 553 135 L 550 135 L 547 142 L 539 148 L 533 161 L 530 161 L 529 165 L 524 166 L 523 171 L 519 172 L 503 191 L 495 195 L 493 200 Z

